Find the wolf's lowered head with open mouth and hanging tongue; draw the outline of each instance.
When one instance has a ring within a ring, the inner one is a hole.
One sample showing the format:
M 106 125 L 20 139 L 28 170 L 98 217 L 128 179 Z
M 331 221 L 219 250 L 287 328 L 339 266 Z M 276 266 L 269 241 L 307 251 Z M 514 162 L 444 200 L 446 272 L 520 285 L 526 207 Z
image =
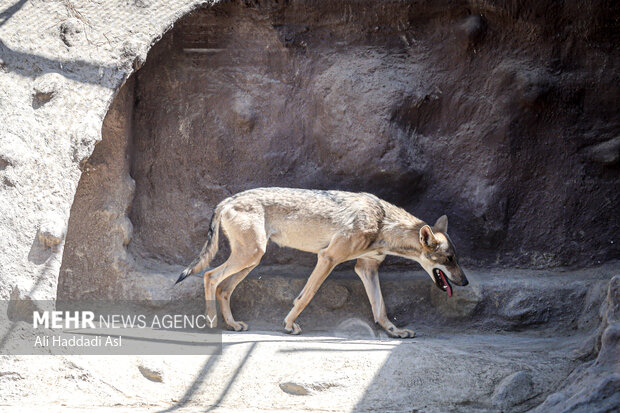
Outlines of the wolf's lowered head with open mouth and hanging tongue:
M 424 225 L 420 228 L 420 244 L 422 251 L 418 262 L 433 279 L 435 285 L 452 296 L 452 286 L 466 286 L 467 277 L 459 266 L 456 251 L 448 237 L 448 217 L 440 217 L 431 228 Z

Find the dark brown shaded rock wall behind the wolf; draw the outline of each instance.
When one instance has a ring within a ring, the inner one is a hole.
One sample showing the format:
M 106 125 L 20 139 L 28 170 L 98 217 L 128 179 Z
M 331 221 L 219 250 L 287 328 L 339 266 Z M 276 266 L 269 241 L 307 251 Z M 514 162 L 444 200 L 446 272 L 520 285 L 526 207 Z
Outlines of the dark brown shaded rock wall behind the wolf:
M 617 8 L 226 2 L 136 74 L 130 249 L 183 265 L 258 186 L 367 191 L 466 265 L 620 257 Z M 271 247 L 263 263 L 313 257 Z

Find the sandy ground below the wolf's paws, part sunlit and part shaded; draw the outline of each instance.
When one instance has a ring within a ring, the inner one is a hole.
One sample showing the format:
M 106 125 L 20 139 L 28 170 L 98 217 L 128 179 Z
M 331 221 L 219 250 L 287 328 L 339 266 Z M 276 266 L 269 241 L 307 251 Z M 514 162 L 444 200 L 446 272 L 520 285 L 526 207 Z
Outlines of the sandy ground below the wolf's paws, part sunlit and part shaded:
M 363 323 L 355 330 L 364 333 Z M 340 334 L 341 336 L 344 334 Z M 408 340 L 224 333 L 213 356 L 2 356 L 0 406 L 45 411 L 497 411 L 498 383 L 531 374 L 539 404 L 576 365 L 582 335 Z M 142 372 L 141 372 L 142 371 Z M 143 374 L 143 372 L 145 372 Z M 147 377 L 148 376 L 148 377 Z

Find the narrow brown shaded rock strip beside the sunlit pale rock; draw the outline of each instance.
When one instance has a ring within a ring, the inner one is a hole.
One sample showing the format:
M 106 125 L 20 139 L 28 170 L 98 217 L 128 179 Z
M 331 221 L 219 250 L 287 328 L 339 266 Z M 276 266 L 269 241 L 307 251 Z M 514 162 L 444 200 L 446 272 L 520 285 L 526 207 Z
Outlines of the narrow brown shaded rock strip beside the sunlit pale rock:
M 133 78 L 120 89 L 103 121 L 103 139 L 82 166 L 60 269 L 59 300 L 119 297 L 132 266 L 126 247 L 133 225 L 127 213 L 135 182 L 131 166 Z

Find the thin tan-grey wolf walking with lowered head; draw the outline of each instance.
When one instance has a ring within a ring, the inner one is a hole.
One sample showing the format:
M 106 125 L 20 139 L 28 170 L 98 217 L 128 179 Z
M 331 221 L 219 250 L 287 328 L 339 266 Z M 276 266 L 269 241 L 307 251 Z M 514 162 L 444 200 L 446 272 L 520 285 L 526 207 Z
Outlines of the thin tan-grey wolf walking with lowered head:
M 334 267 L 348 260 L 357 260 L 355 272 L 364 284 L 375 323 L 392 337 L 414 337 L 415 333 L 397 328 L 388 319 L 378 272 L 386 255 L 417 261 L 449 296 L 451 283 L 468 284 L 448 237 L 445 215 L 431 227 L 369 193 L 295 188 L 250 189 L 220 202 L 200 255 L 175 284 L 208 267 L 218 251 L 220 228 L 228 237 L 230 256 L 204 273 L 206 313 L 210 320 L 216 320 L 217 298 L 225 323 L 235 331 L 247 330 L 248 325 L 235 321 L 230 296 L 259 264 L 270 240 L 317 254 L 316 267 L 282 323 L 291 334 L 301 333 L 295 320 Z

